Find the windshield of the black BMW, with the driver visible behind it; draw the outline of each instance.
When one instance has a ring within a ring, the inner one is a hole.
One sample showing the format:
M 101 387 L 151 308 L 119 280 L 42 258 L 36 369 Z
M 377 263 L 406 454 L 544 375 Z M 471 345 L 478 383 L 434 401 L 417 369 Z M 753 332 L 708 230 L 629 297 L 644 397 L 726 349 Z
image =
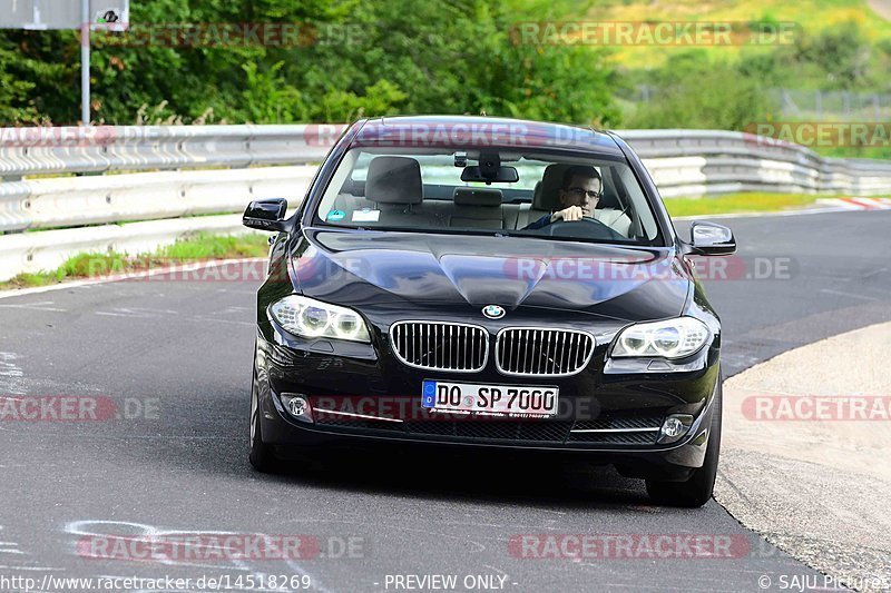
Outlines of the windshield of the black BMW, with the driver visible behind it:
M 654 245 L 649 201 L 624 160 L 507 150 L 353 148 L 316 210 L 325 225 Z

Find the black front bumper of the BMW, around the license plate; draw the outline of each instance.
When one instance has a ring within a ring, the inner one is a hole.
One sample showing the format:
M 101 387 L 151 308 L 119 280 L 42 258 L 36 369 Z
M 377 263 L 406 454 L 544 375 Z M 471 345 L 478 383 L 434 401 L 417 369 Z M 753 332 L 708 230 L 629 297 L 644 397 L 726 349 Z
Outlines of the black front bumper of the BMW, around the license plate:
M 561 451 L 584 454 L 595 463 L 614 464 L 625 475 L 664 480 L 685 480 L 692 470 L 703 465 L 719 377 L 718 349 L 714 344 L 701 353 L 703 364 L 697 370 L 644 374 L 604 373 L 607 348 L 604 344 L 596 348 L 582 373 L 558 378 L 505 376 L 492 365 L 468 377 L 408 367 L 380 345 L 347 347 L 349 356 L 341 352 L 319 352 L 315 345 L 290 340 L 278 328 L 261 327 L 255 368 L 262 434 L 264 442 L 282 456 L 287 456 L 294 447 L 336 447 L 363 439 Z M 431 421 L 418 415 L 421 384 L 431 378 L 557 385 L 561 404 L 569 405 L 565 411 L 561 406 L 561 413 L 554 419 Z M 325 415 L 324 421 L 306 423 L 285 411 L 282 394 L 304 395 L 314 405 L 327 402 L 325 407 L 330 407 L 330 402 L 345 399 L 364 402 L 371 407 L 353 409 L 359 416 Z M 386 413 L 375 413 L 384 407 Z M 395 409 L 399 412 L 393 414 Z M 694 421 L 682 439 L 667 445 L 657 444 L 654 432 L 610 428 L 660 426 L 669 414 L 689 414 Z M 402 422 L 378 421 L 375 416 Z M 578 432 L 581 429 L 598 432 Z

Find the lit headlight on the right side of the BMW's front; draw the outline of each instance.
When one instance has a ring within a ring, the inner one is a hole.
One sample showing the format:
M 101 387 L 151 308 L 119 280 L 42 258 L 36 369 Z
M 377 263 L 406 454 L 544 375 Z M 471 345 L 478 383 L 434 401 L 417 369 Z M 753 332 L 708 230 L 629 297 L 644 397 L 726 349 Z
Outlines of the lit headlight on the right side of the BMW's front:
M 708 326 L 693 317 L 635 324 L 616 337 L 611 356 L 684 358 L 702 348 L 708 335 Z

